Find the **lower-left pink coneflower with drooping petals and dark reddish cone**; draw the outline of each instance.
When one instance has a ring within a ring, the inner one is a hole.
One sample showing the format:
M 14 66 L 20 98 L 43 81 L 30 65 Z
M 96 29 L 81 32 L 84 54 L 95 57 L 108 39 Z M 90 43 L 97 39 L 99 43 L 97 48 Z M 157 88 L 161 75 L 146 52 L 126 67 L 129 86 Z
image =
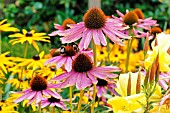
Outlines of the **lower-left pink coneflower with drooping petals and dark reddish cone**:
M 43 78 L 41 75 L 35 75 L 31 82 L 30 82 L 31 88 L 17 92 L 17 93 L 24 93 L 21 97 L 19 97 L 17 100 L 15 100 L 15 103 L 21 102 L 25 99 L 28 99 L 28 104 L 31 104 L 32 102 L 36 101 L 36 103 L 39 103 L 43 95 L 44 96 L 53 96 L 55 98 L 60 99 L 61 96 L 57 93 L 51 90 L 50 88 L 53 88 L 52 84 L 47 84 L 47 81 L 45 78 Z

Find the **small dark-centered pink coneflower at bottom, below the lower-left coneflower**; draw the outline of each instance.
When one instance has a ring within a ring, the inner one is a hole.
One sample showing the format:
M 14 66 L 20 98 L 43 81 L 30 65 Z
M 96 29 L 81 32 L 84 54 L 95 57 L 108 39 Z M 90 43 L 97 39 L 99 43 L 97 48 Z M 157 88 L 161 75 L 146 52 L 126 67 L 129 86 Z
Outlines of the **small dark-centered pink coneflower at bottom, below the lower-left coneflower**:
M 57 106 L 63 110 L 67 110 L 66 106 L 64 105 L 64 101 L 59 98 L 55 98 L 55 97 L 43 98 L 41 101 L 41 108 L 44 108 L 48 105 L 50 107 Z

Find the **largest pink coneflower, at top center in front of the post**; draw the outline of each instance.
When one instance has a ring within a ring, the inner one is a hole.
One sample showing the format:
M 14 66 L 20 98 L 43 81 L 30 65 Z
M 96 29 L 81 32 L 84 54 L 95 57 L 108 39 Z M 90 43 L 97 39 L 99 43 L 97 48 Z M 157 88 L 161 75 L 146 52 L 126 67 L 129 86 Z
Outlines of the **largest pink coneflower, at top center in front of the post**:
M 80 50 L 87 49 L 92 38 L 96 45 L 107 45 L 106 36 L 120 45 L 124 45 L 120 38 L 130 38 L 128 35 L 123 34 L 119 30 L 124 29 L 122 23 L 107 18 L 104 12 L 99 8 L 89 9 L 84 17 L 83 22 L 68 25 L 70 29 L 65 31 L 66 36 L 61 38 L 62 43 L 74 42 L 81 39 L 79 48 Z M 105 34 L 105 35 L 104 35 Z

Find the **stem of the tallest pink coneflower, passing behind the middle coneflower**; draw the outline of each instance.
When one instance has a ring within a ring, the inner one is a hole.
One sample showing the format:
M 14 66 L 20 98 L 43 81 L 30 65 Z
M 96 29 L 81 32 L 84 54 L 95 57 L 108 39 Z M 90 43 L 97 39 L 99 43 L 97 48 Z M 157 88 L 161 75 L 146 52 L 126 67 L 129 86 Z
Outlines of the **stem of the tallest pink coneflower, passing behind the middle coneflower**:
M 94 66 L 97 66 L 97 52 L 96 52 L 96 45 L 94 43 L 94 40 L 92 41 L 93 45 L 93 58 L 94 58 Z M 94 106 L 95 106 L 95 99 L 96 99 L 96 84 L 93 84 L 93 103 L 91 106 L 91 113 L 94 113 Z

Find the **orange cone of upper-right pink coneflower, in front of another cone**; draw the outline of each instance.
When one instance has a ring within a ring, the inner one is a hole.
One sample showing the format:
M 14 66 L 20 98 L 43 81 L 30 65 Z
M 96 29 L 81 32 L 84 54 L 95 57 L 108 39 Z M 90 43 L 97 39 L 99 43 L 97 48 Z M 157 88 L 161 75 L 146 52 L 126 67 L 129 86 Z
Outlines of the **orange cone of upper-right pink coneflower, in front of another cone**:
M 125 16 L 123 18 L 123 22 L 126 25 L 132 25 L 134 23 L 137 23 L 138 22 L 138 15 L 136 13 L 134 13 L 134 11 L 130 11 L 130 12 L 125 14 Z

